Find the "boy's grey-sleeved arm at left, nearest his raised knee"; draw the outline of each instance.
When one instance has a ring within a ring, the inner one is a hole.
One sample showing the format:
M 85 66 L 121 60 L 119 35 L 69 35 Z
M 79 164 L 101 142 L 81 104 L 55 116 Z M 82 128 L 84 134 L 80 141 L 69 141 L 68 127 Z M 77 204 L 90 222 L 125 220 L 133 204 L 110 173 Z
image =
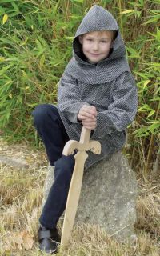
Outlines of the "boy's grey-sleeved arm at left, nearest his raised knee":
M 65 114 L 70 122 L 78 123 L 78 112 L 84 105 L 90 106 L 82 102 L 76 79 L 62 77 L 58 85 L 58 110 Z

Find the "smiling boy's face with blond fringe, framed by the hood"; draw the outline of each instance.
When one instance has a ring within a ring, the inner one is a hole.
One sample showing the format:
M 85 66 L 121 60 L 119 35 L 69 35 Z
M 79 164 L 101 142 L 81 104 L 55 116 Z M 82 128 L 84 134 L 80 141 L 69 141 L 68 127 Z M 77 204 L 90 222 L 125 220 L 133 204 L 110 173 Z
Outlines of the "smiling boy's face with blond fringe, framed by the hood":
M 93 31 L 79 36 L 83 54 L 90 63 L 98 63 L 110 53 L 113 44 L 113 31 Z

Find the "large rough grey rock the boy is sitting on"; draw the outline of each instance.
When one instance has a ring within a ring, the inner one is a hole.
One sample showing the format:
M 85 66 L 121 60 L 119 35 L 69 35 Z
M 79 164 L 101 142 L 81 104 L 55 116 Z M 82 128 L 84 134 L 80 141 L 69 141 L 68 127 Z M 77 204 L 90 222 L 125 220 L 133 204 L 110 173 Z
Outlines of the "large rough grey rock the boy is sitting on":
M 49 166 L 44 198 L 53 183 L 54 166 Z M 101 226 L 119 242 L 134 242 L 137 182 L 126 157 L 118 152 L 85 171 L 75 222 Z

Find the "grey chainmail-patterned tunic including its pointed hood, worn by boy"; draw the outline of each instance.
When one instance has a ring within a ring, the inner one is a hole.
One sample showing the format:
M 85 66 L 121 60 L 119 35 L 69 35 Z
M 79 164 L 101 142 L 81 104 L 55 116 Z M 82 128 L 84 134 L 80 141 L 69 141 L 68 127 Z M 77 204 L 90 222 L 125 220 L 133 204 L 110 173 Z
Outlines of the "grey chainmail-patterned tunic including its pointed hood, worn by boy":
M 113 49 L 108 58 L 90 64 L 82 53 L 78 36 L 94 30 L 114 30 Z M 78 111 L 83 105 L 95 106 L 97 127 L 91 138 L 102 145 L 102 153 L 89 153 L 86 168 L 108 158 L 126 142 L 126 127 L 134 120 L 138 97 L 134 78 L 126 60 L 126 49 L 112 14 L 93 6 L 82 19 L 74 37 L 73 58 L 58 85 L 58 112 L 70 139 L 79 140 L 82 124 Z

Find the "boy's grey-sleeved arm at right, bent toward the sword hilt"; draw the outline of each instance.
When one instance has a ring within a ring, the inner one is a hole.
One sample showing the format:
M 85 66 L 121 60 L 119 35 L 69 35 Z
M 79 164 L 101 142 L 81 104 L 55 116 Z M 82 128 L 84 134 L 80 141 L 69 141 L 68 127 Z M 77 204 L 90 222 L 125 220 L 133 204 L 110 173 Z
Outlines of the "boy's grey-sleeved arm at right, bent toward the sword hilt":
M 112 99 L 108 110 L 98 112 L 97 126 L 92 138 L 102 138 L 116 130 L 125 130 L 133 122 L 137 112 L 138 94 L 134 78 L 129 72 L 116 79 Z

